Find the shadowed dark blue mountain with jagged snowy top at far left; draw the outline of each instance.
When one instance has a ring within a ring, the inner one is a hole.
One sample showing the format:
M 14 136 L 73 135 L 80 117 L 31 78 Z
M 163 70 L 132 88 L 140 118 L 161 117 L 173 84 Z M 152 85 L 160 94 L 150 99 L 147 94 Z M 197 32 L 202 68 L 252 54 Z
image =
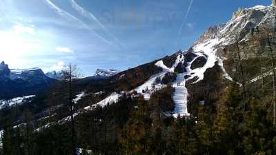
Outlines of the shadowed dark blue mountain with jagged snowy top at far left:
M 0 64 L 0 98 L 36 94 L 53 82 L 40 68 L 9 69 L 6 63 Z

